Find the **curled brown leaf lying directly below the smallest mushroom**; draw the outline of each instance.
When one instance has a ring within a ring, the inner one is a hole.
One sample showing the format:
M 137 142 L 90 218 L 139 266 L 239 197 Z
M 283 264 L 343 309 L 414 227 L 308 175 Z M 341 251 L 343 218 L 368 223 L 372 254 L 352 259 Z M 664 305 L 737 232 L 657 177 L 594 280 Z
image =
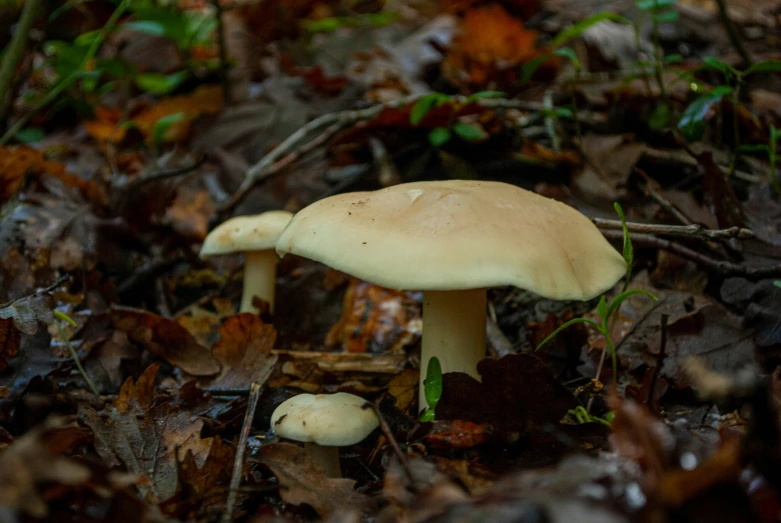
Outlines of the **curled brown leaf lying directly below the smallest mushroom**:
M 279 480 L 279 495 L 286 503 L 311 505 L 323 518 L 350 509 L 368 514 L 374 507 L 372 498 L 354 490 L 355 481 L 327 477 L 301 447 L 290 443 L 263 445 L 256 457 Z

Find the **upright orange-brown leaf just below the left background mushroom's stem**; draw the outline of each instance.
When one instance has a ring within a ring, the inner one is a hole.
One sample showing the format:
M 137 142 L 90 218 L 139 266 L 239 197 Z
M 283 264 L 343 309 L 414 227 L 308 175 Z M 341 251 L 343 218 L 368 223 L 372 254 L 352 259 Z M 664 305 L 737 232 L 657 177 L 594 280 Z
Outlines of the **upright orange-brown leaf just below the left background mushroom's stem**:
M 271 354 L 276 339 L 274 327 L 255 314 L 240 312 L 228 318 L 220 327 L 220 340 L 212 347 L 222 372 L 209 386 L 238 389 L 265 382 L 277 360 Z

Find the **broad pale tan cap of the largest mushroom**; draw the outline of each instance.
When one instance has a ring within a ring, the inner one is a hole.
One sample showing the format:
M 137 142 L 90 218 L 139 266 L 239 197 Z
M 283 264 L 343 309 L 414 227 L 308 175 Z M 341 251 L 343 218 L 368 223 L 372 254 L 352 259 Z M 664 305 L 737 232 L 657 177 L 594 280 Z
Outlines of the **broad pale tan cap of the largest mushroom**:
M 296 214 L 277 252 L 393 289 L 514 285 L 552 299 L 591 299 L 626 271 L 621 254 L 572 207 L 472 180 L 325 198 Z

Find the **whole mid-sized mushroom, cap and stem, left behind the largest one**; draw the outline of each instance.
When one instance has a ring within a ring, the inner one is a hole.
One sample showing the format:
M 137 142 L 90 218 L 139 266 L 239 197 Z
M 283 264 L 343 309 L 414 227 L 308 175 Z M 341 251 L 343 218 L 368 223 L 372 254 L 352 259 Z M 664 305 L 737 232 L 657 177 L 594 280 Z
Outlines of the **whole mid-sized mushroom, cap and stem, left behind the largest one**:
M 253 297 L 268 302 L 274 312 L 274 284 L 277 276 L 277 253 L 274 245 L 293 217 L 287 211 L 268 211 L 255 216 L 237 216 L 218 225 L 206 236 L 201 258 L 217 254 L 244 253 L 244 292 L 241 312 L 260 312 L 252 305 Z

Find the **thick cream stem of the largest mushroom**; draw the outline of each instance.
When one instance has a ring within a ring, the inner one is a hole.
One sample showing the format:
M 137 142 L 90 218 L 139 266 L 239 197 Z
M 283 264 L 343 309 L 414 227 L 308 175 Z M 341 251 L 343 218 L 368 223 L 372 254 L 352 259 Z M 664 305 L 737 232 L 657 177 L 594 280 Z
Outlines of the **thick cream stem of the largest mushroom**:
M 436 356 L 442 372 L 465 372 L 480 379 L 477 362 L 485 357 L 486 290 L 423 292 L 423 340 L 420 354 L 420 408 L 427 406 L 423 379 Z

